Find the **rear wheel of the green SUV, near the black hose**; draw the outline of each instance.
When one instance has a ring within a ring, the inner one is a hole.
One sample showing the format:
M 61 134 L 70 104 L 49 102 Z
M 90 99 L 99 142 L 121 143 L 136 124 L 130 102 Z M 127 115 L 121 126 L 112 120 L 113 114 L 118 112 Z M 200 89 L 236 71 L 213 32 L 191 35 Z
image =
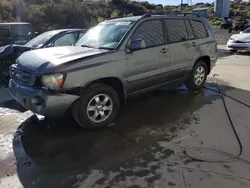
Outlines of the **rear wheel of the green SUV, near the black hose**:
M 196 81 L 197 78 L 195 78 L 195 77 L 199 74 L 199 73 L 197 73 L 197 71 L 200 71 L 200 70 L 204 71 L 204 75 L 203 75 L 203 72 L 200 73 L 199 78 L 201 78 L 201 80 L 200 80 L 200 83 L 198 83 L 198 81 Z M 203 75 L 203 77 L 201 77 L 202 75 Z M 191 73 L 189 74 L 188 78 L 185 81 L 186 87 L 190 90 L 200 89 L 205 84 L 205 82 L 207 80 L 207 75 L 208 75 L 207 64 L 202 60 L 198 61 L 194 65 Z

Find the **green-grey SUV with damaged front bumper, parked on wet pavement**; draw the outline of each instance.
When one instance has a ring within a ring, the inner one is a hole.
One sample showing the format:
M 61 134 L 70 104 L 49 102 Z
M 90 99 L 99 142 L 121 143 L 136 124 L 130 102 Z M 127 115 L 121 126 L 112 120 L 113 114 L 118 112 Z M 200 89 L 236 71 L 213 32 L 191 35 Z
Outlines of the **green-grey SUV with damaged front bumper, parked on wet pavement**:
M 84 128 L 109 125 L 126 100 L 185 82 L 199 89 L 217 61 L 210 25 L 197 16 L 107 20 L 75 46 L 29 51 L 12 65 L 11 95 L 45 117 L 72 113 Z

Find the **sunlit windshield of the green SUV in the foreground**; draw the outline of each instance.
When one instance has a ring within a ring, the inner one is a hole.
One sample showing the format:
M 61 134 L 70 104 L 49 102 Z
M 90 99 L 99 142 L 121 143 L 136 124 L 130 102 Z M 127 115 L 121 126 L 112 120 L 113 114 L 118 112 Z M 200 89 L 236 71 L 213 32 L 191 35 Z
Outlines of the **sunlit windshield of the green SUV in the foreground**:
M 103 22 L 90 29 L 77 46 L 115 49 L 134 22 Z

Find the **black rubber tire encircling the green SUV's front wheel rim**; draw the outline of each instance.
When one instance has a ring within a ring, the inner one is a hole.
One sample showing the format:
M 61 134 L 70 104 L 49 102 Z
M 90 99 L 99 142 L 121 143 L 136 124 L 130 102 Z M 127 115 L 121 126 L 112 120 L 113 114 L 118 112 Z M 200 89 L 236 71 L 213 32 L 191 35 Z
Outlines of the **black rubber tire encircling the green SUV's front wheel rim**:
M 110 97 L 113 109 L 108 118 L 102 122 L 94 122 L 88 117 L 87 106 L 96 95 L 107 95 Z M 102 128 L 110 125 L 116 117 L 120 108 L 120 99 L 117 92 L 110 86 L 104 84 L 92 84 L 87 87 L 72 106 L 73 118 L 78 125 L 85 129 Z

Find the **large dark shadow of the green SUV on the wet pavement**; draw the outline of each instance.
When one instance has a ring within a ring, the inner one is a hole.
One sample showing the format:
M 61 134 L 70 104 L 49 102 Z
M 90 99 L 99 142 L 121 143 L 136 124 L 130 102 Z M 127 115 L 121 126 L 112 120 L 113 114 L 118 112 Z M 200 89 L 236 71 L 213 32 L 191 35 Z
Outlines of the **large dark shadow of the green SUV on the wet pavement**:
M 71 187 L 78 174 L 112 169 L 161 139 L 173 139 L 178 130 L 198 124 L 194 112 L 219 98 L 207 89 L 154 91 L 129 100 L 115 123 L 99 130 L 82 130 L 70 119 L 39 121 L 32 116 L 13 138 L 18 177 L 24 187 Z

